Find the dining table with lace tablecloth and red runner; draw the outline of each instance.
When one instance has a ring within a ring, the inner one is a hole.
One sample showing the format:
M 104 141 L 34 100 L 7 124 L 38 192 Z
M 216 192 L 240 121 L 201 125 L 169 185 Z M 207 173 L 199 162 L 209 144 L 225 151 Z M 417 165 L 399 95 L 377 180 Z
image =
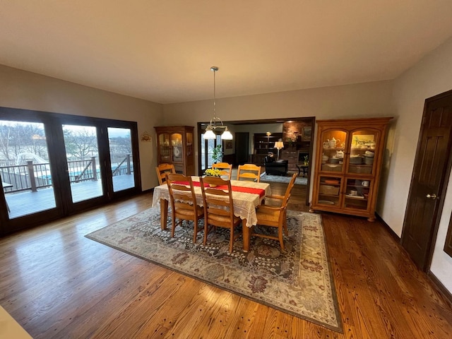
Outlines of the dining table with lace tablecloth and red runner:
M 203 206 L 203 194 L 199 177 L 191 177 L 194 183 L 196 203 Z M 231 180 L 234 215 L 242 219 L 243 250 L 249 251 L 251 227 L 257 224 L 256 207 L 271 195 L 270 184 L 264 182 Z M 187 183 L 187 186 L 189 184 Z M 169 190 L 167 184 L 154 187 L 153 207 L 160 205 L 160 227 L 165 230 L 168 217 Z

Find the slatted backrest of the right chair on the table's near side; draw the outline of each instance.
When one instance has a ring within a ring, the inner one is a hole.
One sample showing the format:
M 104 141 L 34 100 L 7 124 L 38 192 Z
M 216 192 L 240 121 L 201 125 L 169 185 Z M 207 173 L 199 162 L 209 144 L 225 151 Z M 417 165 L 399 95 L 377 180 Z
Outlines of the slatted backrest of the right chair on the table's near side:
M 232 200 L 230 180 L 223 180 L 218 177 L 203 177 L 199 181 L 203 192 L 204 218 L 206 218 L 206 222 L 220 227 L 232 227 L 234 222 L 234 201 Z M 221 186 L 221 188 L 215 188 L 216 186 Z

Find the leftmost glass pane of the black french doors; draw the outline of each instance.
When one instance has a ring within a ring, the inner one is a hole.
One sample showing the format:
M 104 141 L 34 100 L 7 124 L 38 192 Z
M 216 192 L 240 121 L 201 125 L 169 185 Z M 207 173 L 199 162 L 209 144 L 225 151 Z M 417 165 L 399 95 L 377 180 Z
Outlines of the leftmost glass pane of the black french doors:
M 10 219 L 56 208 L 44 124 L 0 121 L 0 176 Z

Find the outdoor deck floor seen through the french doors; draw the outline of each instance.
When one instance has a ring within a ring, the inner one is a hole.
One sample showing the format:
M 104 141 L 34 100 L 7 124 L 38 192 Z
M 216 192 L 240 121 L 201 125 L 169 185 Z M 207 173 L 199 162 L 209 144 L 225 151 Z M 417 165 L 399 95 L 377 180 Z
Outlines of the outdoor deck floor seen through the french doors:
M 114 191 L 122 191 L 133 186 L 135 186 L 133 175 L 113 177 Z M 102 182 L 97 180 L 71 184 L 71 193 L 74 203 L 102 196 Z M 56 207 L 53 187 L 38 189 L 36 192 L 24 191 L 11 194 L 6 192 L 5 198 L 10 210 L 8 213 L 10 219 Z

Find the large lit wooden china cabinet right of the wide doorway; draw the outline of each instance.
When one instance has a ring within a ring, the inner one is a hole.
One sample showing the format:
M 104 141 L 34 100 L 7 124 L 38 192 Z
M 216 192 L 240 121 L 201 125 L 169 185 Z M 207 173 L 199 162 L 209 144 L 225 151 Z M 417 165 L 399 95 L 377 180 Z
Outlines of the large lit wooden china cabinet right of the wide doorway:
M 375 220 L 386 131 L 391 117 L 319 120 L 311 211 Z

